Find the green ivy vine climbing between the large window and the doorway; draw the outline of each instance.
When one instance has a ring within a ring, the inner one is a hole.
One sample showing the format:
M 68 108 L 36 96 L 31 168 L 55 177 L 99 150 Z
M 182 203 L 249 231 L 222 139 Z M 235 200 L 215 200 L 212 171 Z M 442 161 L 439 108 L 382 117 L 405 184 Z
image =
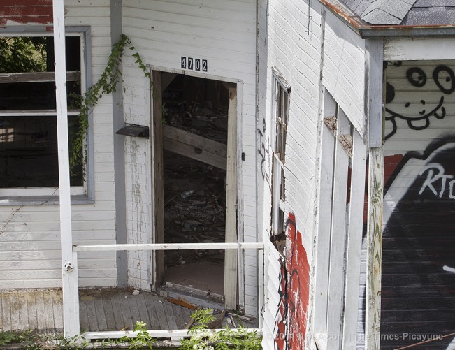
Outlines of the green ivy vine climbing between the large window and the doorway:
M 69 159 L 71 170 L 82 163 L 82 160 L 87 160 L 85 137 L 87 136 L 89 127 L 89 114 L 104 94 L 110 94 L 116 91 L 117 82 L 122 76 L 120 64 L 122 63 L 124 50 L 127 47 L 133 52 L 132 56 L 136 59 L 135 63 L 138 64 L 139 68 L 143 71 L 145 78 L 152 78 L 152 75 L 147 70 L 147 66 L 143 63 L 136 48 L 131 44 L 131 40 L 124 34 L 120 35 L 119 41 L 113 45 L 113 50 L 110 52 L 108 63 L 99 80 L 89 87 L 85 94 L 80 96 L 80 112 L 78 117 L 80 127 L 78 133 L 76 133 L 73 140 L 71 140 L 71 155 Z

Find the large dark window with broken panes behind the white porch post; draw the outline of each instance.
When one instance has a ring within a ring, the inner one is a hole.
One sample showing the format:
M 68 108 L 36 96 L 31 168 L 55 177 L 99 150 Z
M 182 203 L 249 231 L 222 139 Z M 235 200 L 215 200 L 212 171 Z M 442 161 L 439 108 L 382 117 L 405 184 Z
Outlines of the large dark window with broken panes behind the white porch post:
M 66 36 L 69 150 L 80 130 L 85 68 L 83 36 Z M 0 187 L 2 196 L 52 194 L 59 186 L 54 38 L 0 36 Z M 71 156 L 71 154 L 70 154 Z M 84 159 L 83 156 L 80 159 Z M 82 161 L 71 169 L 71 186 L 84 193 Z M 27 188 L 27 193 L 23 189 Z M 36 190 L 30 191 L 31 188 Z M 48 188 L 47 190 L 45 188 Z M 10 189 L 10 191 L 6 190 Z M 21 192 L 22 189 L 22 192 Z M 43 191 L 38 191 L 42 189 Z

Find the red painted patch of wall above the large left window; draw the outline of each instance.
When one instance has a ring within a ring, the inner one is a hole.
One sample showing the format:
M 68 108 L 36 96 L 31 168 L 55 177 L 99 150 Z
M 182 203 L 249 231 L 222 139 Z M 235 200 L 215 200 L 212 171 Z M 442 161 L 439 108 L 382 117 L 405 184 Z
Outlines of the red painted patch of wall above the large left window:
M 8 22 L 52 24 L 52 0 L 1 0 L 0 27 Z

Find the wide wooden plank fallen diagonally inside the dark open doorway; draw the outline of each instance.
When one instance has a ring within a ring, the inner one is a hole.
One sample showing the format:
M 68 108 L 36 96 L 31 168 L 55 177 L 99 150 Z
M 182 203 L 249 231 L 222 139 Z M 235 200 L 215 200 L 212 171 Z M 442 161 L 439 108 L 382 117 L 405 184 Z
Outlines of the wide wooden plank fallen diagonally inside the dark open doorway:
M 186 143 L 201 150 L 217 154 L 226 158 L 227 156 L 227 145 L 224 143 L 219 143 L 210 138 L 205 138 L 196 133 L 190 133 L 182 129 L 175 128 L 174 126 L 164 125 L 163 126 L 163 136 L 165 138 L 171 138 L 172 140 L 180 141 L 181 143 Z

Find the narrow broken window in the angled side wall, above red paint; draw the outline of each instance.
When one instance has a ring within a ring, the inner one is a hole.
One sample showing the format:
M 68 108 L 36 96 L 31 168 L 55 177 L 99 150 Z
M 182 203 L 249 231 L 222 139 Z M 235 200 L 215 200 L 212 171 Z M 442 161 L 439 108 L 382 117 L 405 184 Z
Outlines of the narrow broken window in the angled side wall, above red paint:
M 273 147 L 272 234 L 279 251 L 284 249 L 284 158 L 286 149 L 287 119 L 290 86 L 279 71 L 273 70 L 273 117 L 275 119 L 275 145 Z

